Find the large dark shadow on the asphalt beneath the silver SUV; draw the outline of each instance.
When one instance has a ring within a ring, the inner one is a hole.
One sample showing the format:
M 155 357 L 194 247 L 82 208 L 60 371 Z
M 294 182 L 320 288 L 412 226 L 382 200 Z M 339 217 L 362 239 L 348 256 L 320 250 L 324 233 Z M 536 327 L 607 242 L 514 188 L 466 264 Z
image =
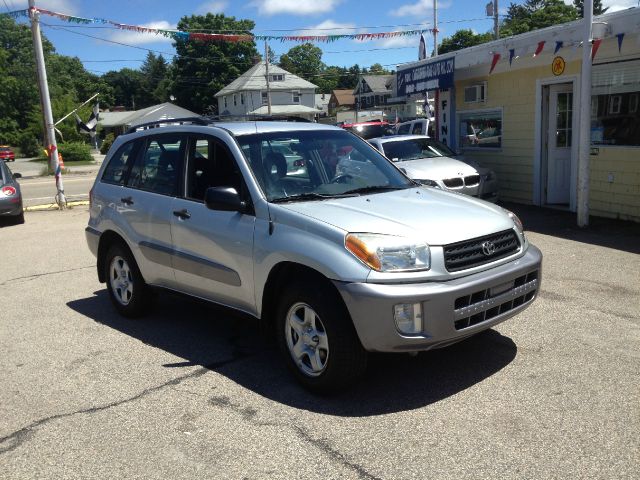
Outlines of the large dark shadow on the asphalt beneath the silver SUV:
M 165 364 L 165 368 L 200 365 L 265 398 L 335 416 L 366 417 L 424 407 L 490 377 L 517 353 L 510 338 L 488 330 L 415 357 L 374 354 L 363 381 L 345 392 L 318 396 L 299 386 L 275 342 L 253 317 L 165 292 L 154 302 L 153 312 L 137 320 L 117 314 L 106 290 L 67 305 L 97 323 L 185 360 Z

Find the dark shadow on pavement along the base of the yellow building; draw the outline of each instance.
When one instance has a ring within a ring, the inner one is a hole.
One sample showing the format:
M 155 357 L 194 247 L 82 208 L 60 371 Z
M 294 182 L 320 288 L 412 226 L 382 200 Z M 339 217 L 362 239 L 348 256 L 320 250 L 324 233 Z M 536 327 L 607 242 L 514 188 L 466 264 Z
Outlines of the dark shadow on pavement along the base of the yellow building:
M 589 226 L 580 228 L 577 225 L 575 212 L 516 203 L 501 203 L 501 206 L 518 215 L 525 230 L 630 253 L 640 253 L 638 240 L 640 223 L 590 217 Z

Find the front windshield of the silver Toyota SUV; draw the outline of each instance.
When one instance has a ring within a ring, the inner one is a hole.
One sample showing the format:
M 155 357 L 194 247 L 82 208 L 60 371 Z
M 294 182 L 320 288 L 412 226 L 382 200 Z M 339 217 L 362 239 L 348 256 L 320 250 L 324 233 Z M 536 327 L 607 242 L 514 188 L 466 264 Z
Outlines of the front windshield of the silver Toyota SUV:
M 361 195 L 413 185 L 371 145 L 345 131 L 259 133 L 237 140 L 270 202 Z

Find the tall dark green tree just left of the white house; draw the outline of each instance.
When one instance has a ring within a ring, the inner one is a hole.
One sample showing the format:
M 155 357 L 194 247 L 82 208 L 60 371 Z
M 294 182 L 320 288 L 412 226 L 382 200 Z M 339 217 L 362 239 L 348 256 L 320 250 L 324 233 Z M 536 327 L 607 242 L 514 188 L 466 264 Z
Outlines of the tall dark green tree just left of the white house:
M 223 14 L 182 17 L 178 30 L 250 33 L 251 20 Z M 171 92 L 176 103 L 198 113 L 217 111 L 214 95 L 249 70 L 260 54 L 255 42 L 176 42 Z

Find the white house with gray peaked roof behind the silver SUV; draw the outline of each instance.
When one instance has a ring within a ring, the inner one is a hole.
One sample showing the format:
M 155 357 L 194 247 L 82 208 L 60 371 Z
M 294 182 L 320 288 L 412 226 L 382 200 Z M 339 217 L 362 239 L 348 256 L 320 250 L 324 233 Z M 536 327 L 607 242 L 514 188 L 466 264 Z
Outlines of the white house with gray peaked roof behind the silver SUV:
M 215 94 L 218 112 L 225 116 L 267 115 L 267 66 L 259 62 Z M 313 120 L 316 85 L 269 64 L 269 91 L 272 115 L 291 115 Z

